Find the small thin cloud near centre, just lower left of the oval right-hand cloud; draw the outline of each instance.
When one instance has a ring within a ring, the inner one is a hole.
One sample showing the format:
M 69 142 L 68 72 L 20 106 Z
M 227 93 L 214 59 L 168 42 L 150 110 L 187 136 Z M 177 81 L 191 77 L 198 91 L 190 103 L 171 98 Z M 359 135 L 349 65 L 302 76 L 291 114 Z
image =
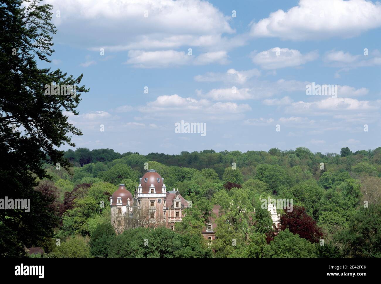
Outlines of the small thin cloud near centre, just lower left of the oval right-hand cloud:
M 245 71 L 237 71 L 229 69 L 226 73 L 213 73 L 208 72 L 204 75 L 197 75 L 194 80 L 197 82 L 232 82 L 243 84 L 253 77 L 259 77 L 261 72 L 258 69 L 251 69 Z

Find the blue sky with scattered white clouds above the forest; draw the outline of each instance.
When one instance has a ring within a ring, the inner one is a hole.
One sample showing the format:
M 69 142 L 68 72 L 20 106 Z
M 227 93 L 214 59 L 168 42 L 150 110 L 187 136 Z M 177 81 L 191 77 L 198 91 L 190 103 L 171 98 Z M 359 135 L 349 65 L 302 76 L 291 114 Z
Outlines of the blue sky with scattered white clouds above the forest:
M 83 73 L 90 88 L 79 115 L 65 112 L 83 132 L 72 136 L 76 147 L 178 154 L 381 146 L 379 2 L 44 3 L 58 32 L 52 62 L 39 66 Z M 307 94 L 321 85 L 333 88 Z M 176 133 L 181 121 L 206 124 L 206 135 Z

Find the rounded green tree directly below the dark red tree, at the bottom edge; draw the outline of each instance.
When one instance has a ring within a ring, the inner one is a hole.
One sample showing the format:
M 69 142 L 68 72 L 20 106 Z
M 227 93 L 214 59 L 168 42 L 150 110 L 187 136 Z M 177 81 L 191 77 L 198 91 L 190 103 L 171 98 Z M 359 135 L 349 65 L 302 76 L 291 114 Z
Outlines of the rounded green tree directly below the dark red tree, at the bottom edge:
M 316 247 L 290 230 L 280 231 L 264 248 L 264 257 L 317 257 Z

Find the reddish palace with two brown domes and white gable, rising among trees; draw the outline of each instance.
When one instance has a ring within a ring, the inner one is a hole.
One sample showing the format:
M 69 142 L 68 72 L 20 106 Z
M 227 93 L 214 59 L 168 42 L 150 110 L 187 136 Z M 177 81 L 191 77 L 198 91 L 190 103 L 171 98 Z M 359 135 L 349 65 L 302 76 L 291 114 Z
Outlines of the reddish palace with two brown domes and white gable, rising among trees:
M 111 223 L 117 233 L 136 227 L 165 226 L 174 230 L 174 224 L 181 222 L 184 210 L 191 202 L 184 199 L 179 191 L 167 191 L 164 179 L 156 170 L 150 169 L 139 179 L 139 186 L 135 186 L 134 195 L 124 184 L 110 197 Z M 219 216 L 221 206 L 214 205 L 213 213 Z M 277 225 L 279 215 L 271 205 L 268 207 L 272 220 Z M 202 235 L 208 241 L 216 239 L 215 217 L 205 223 Z

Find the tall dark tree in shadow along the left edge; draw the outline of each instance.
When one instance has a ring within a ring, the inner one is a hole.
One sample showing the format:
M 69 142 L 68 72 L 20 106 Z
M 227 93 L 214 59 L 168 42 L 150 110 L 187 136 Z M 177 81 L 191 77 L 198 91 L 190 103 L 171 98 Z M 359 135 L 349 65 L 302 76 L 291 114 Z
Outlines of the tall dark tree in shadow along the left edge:
M 30 199 L 34 204 L 28 213 L 1 210 L 0 243 L 5 232 L 13 231 L 21 248 L 53 236 L 57 222 L 49 207 L 53 198 L 33 187 L 37 177 L 46 177 L 42 163 L 47 156 L 54 165 L 69 166 L 58 148 L 65 143 L 74 147 L 71 134 L 82 132 L 68 122 L 64 111 L 77 115 L 80 93 L 88 91 L 77 86 L 75 96 L 45 94 L 45 85 L 78 85 L 83 75 L 74 78 L 60 69 L 37 67 L 36 57 L 50 62 L 48 56 L 54 52 L 51 34 L 56 29 L 49 11 L 53 6 L 40 5 L 41 0 L 25 2 L 25 6 L 21 0 L 0 5 L 0 183 L 7 185 L 3 196 Z M 0 254 L 14 252 L 2 247 Z

